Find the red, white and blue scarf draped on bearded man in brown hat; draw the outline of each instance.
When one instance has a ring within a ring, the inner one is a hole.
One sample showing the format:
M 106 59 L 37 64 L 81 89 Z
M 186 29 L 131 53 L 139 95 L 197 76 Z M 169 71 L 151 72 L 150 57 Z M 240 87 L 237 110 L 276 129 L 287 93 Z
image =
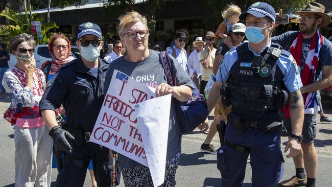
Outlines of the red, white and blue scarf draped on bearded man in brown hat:
M 304 67 L 301 68 L 301 58 L 302 58 L 302 33 L 299 32 L 295 40 L 293 41 L 290 49 L 290 53 L 294 57 L 299 73 L 301 75 L 301 81 L 303 86 L 311 84 L 315 82 L 317 78 L 317 67 L 319 63 L 319 52 L 322 46 L 322 40 L 323 36 L 319 33 L 317 30 L 316 34 L 314 35 L 313 39 L 311 40 L 309 52 L 307 53 Z M 304 113 L 312 113 L 309 112 L 310 110 L 314 110 L 315 108 L 318 108 L 318 102 L 316 98 L 316 91 L 309 92 L 309 93 L 303 93 L 302 94 L 303 100 L 304 100 Z M 290 118 L 290 108 L 289 105 L 287 105 L 284 109 L 286 113 L 286 117 Z

